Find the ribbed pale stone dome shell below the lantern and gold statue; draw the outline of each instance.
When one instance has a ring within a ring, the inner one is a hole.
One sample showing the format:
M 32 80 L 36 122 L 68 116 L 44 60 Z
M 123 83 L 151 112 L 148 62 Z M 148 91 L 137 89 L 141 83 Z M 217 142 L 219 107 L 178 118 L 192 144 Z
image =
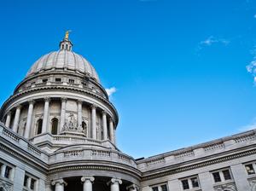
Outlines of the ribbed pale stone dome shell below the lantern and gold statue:
M 82 55 L 78 55 L 67 49 L 61 49 L 59 51 L 43 55 L 32 65 L 29 72 L 27 72 L 26 77 L 37 72 L 48 71 L 51 69 L 65 69 L 82 72 L 85 75 L 89 75 L 90 78 L 95 78 L 97 82 L 100 82 L 98 74 L 94 67 L 91 66 L 90 62 L 86 61 Z

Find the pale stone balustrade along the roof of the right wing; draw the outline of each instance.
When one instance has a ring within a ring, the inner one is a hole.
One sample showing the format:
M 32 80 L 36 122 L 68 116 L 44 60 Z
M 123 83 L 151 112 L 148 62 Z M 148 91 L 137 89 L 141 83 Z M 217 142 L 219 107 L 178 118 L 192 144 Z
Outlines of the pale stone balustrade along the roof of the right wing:
M 249 130 L 234 136 L 195 145 L 191 148 L 182 148 L 169 153 L 163 153 L 148 159 L 140 159 L 137 160 L 137 166 L 140 171 L 148 171 L 148 169 L 154 170 L 154 168 L 160 168 L 160 166 L 176 165 L 183 161 L 199 159 L 215 153 L 226 152 L 234 148 L 241 148 L 248 143 L 256 144 L 256 130 Z

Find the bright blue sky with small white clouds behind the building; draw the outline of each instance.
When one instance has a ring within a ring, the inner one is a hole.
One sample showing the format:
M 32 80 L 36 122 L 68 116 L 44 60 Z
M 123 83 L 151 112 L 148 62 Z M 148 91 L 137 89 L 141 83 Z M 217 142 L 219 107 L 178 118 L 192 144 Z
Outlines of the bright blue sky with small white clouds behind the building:
M 119 148 L 135 158 L 256 127 L 253 0 L 2 1 L 0 103 L 34 61 L 73 50 L 119 111 Z

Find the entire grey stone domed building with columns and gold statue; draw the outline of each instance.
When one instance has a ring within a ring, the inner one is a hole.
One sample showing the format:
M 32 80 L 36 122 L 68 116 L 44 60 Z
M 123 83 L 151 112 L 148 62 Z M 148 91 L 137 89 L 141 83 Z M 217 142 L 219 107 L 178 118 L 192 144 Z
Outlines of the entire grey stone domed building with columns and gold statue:
M 256 130 L 133 159 L 116 147 L 118 113 L 72 51 L 42 56 L 0 119 L 0 191 L 256 191 Z

